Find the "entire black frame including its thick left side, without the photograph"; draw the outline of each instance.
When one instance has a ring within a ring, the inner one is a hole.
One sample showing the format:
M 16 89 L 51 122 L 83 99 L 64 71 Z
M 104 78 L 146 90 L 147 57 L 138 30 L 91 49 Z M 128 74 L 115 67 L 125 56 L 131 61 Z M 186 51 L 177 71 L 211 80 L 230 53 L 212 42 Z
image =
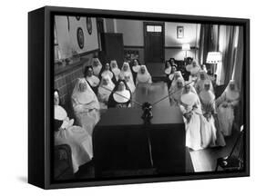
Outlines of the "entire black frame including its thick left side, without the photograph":
M 244 27 L 244 170 L 195 172 L 183 175 L 98 179 L 97 181 L 53 181 L 53 99 L 54 92 L 54 15 L 81 15 L 167 21 L 180 23 L 242 25 Z M 59 189 L 98 185 L 145 183 L 156 181 L 188 181 L 244 177 L 250 175 L 250 20 L 196 15 L 169 15 L 124 12 L 86 8 L 45 6 L 28 13 L 28 182 L 43 189 Z

